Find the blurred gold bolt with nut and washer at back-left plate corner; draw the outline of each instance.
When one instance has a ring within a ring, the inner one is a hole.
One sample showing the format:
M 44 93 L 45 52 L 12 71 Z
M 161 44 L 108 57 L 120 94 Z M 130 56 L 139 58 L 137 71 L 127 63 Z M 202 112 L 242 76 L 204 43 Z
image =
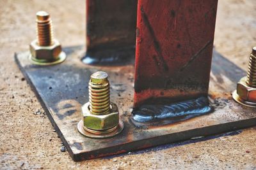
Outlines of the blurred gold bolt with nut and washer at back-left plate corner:
M 33 64 L 47 66 L 58 64 L 66 59 L 57 39 L 53 38 L 52 21 L 49 13 L 36 13 L 37 39 L 29 45 L 29 59 Z

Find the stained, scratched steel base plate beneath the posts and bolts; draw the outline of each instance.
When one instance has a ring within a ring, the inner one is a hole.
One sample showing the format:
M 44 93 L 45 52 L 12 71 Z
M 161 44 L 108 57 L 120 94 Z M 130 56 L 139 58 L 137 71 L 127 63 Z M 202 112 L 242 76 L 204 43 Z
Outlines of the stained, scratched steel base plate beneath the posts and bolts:
M 214 52 L 209 98 L 214 112 L 173 124 L 134 124 L 131 111 L 134 94 L 134 66 L 88 66 L 79 58 L 83 49 L 65 48 L 67 60 L 56 66 L 33 66 L 29 52 L 17 53 L 15 60 L 40 100 L 72 159 L 86 160 L 140 150 L 196 136 L 207 136 L 256 125 L 256 110 L 234 101 L 230 92 L 245 73 Z M 95 71 L 106 71 L 111 83 L 111 101 L 118 105 L 125 129 L 108 139 L 90 139 L 77 132 L 81 105 L 88 101 L 88 80 Z

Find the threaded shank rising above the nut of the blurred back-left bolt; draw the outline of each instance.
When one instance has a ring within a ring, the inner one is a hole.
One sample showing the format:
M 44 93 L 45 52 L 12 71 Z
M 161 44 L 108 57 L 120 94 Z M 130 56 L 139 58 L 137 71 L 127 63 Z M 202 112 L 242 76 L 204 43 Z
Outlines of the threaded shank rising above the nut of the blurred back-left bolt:
M 52 45 L 52 21 L 50 15 L 44 11 L 36 13 L 37 38 L 39 46 Z

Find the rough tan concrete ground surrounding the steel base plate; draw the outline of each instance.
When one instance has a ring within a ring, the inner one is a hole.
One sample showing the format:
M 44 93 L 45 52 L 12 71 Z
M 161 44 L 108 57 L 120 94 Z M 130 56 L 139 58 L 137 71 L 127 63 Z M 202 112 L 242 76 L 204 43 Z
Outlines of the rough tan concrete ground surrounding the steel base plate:
M 85 2 L 0 0 L 0 169 L 256 169 L 256 127 L 175 147 L 74 162 L 13 59 L 35 39 L 35 13 L 52 15 L 63 46 L 84 44 Z M 214 45 L 246 69 L 256 45 L 255 0 L 220 0 Z M 40 111 L 38 111 L 40 110 Z

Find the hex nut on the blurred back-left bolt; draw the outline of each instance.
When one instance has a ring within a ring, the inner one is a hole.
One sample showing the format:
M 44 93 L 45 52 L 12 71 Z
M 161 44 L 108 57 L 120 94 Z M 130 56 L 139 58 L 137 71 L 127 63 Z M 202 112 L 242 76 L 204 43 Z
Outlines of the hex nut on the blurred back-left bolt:
M 61 53 L 61 45 L 56 39 L 51 46 L 39 46 L 37 40 L 29 45 L 31 55 L 37 60 L 57 60 Z

